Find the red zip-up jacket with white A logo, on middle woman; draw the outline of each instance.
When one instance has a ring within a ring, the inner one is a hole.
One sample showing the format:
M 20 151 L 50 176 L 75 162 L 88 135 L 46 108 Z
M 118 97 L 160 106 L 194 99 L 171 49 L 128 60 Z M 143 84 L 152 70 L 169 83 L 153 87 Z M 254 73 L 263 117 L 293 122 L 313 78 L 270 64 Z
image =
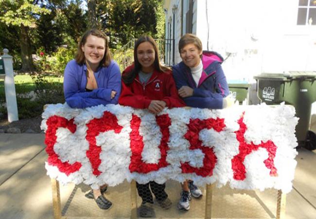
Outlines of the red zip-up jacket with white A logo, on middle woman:
M 129 73 L 134 65 L 127 67 L 123 74 Z M 185 103 L 178 96 L 176 83 L 171 71 L 158 72 L 154 70 L 146 84 L 142 84 L 137 74 L 131 84 L 126 85 L 122 80 L 122 91 L 119 104 L 138 109 L 148 109 L 152 100 L 166 102 L 168 108 L 185 107 Z

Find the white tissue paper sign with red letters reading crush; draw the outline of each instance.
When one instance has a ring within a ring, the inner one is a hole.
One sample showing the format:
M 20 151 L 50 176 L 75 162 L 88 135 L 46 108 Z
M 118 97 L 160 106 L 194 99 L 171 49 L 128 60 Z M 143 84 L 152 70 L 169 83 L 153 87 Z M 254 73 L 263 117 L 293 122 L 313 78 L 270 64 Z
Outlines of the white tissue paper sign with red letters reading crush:
M 292 106 L 163 110 L 120 105 L 42 114 L 47 174 L 61 183 L 98 188 L 192 179 L 238 189 L 292 189 L 297 152 Z

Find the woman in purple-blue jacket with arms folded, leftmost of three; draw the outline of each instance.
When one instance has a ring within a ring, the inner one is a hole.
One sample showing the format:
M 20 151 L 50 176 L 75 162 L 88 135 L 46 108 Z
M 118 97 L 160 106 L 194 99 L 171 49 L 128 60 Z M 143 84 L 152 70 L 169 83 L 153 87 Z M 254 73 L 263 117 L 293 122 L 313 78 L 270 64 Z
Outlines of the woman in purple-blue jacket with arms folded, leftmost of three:
M 120 68 L 111 59 L 107 37 L 96 29 L 87 31 L 78 44 L 75 60 L 71 60 L 65 69 L 64 94 L 67 104 L 71 108 L 117 104 L 120 93 Z M 85 196 L 107 210 L 112 202 L 103 196 L 106 189 L 107 185 L 103 185 Z

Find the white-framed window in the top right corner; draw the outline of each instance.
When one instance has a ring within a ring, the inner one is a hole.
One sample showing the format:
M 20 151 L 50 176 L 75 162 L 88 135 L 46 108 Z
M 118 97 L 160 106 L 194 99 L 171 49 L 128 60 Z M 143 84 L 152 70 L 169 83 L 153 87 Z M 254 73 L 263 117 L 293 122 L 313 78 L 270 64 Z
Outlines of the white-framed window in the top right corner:
M 298 25 L 316 25 L 316 0 L 299 0 Z

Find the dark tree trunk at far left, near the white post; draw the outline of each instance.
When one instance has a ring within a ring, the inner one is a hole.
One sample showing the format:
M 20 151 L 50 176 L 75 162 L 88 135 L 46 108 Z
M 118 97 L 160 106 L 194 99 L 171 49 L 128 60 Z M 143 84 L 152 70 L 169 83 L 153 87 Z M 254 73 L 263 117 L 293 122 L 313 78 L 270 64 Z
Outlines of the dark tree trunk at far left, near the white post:
M 21 25 L 20 32 L 20 46 L 21 46 L 21 59 L 22 59 L 22 72 L 30 72 L 34 70 L 33 58 L 31 53 L 31 43 L 28 34 L 29 28 Z

